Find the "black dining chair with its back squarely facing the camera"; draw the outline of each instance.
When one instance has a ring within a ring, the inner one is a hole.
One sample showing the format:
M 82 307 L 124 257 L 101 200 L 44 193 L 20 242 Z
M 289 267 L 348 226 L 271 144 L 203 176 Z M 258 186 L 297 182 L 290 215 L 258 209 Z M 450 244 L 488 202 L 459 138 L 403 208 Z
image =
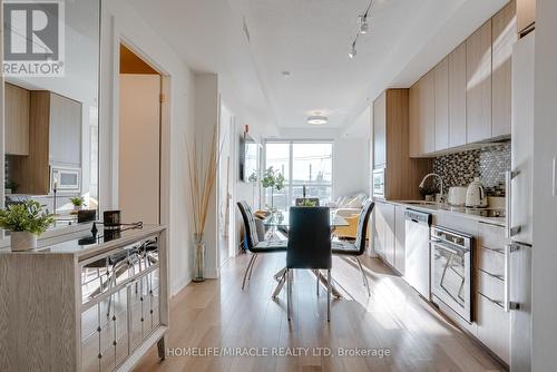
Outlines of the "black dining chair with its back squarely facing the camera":
M 290 208 L 289 249 L 286 251 L 286 313 L 291 319 L 292 271 L 326 270 L 326 320 L 331 321 L 331 224 L 328 207 Z M 319 280 L 317 274 L 317 280 Z

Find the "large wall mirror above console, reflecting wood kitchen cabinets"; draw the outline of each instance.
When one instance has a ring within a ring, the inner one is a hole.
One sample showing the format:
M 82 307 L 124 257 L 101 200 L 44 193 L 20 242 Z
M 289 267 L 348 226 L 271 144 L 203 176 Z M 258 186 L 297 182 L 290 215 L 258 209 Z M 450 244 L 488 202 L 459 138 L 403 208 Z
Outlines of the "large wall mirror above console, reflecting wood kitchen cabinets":
M 100 1 L 45 3 L 2 1 L 4 71 L 13 60 L 31 68 L 4 76 L 2 202 L 36 199 L 58 228 L 75 224 L 79 208 L 98 209 Z

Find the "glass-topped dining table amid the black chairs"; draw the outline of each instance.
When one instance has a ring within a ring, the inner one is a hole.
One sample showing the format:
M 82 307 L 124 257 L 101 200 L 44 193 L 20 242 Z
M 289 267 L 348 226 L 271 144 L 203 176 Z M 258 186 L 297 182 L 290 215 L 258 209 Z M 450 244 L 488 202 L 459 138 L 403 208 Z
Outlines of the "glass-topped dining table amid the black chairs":
M 338 215 L 335 211 L 330 212 L 329 224 L 331 226 L 331 235 L 334 234 L 336 227 L 350 226 L 346 219 Z M 290 227 L 290 213 L 282 213 L 282 212 L 273 213 L 263 221 L 263 225 L 266 228 L 271 229 L 270 242 L 276 242 L 277 239 L 276 229 L 282 228 L 283 231 L 287 232 Z M 312 273 L 317 276 L 321 284 L 323 284 L 323 286 L 326 288 L 326 276 L 319 270 L 314 270 L 312 271 Z M 278 283 L 276 284 L 275 290 L 273 291 L 273 298 L 276 298 L 276 296 L 281 293 L 282 288 L 284 287 L 284 283 L 286 282 L 285 274 L 286 274 L 286 267 L 283 267 L 274 275 L 275 280 Z M 331 284 L 331 290 L 333 296 L 338 298 L 342 297 L 341 293 L 339 292 L 339 290 L 336 290 L 334 284 Z

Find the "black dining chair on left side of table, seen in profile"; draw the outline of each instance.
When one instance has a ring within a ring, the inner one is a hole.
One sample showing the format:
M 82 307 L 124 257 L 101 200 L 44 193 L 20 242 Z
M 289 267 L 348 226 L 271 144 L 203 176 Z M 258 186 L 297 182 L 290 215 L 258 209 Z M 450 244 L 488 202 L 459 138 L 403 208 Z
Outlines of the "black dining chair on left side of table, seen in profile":
M 245 232 L 245 245 L 246 248 L 253 253 L 250 263 L 244 273 L 244 280 L 242 281 L 242 291 L 245 287 L 246 278 L 252 278 L 253 266 L 255 265 L 255 260 L 260 254 L 266 253 L 277 253 L 286 252 L 287 242 L 286 241 L 260 241 L 257 235 L 257 229 L 255 226 L 255 217 L 253 216 L 252 208 L 246 202 L 237 203 L 240 213 L 242 214 L 242 219 L 244 221 L 244 232 Z

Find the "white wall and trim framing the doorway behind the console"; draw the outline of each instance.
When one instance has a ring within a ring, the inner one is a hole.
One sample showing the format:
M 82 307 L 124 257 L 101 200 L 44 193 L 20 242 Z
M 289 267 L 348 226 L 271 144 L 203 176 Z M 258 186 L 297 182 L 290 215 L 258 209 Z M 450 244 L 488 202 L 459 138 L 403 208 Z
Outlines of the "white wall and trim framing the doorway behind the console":
M 125 0 L 102 0 L 101 102 L 100 102 L 100 202 L 101 208 L 118 206 L 118 68 L 119 41 L 126 43 L 160 72 L 169 76 L 169 125 L 163 127 L 162 223 L 169 228 L 170 293 L 190 280 L 188 176 L 185 139 L 194 136 L 193 72 Z

